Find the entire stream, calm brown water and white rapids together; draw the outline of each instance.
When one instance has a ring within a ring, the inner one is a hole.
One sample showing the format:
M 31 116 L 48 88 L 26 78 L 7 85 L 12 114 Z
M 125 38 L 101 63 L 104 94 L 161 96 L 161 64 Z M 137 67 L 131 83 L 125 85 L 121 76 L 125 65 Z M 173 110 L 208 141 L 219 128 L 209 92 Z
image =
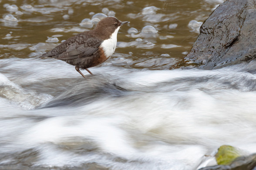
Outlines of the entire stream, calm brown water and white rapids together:
M 0 0 L 0 169 L 197 170 L 224 144 L 255 153 L 256 61 L 176 66 L 219 3 Z M 130 23 L 94 75 L 39 58 L 103 13 Z

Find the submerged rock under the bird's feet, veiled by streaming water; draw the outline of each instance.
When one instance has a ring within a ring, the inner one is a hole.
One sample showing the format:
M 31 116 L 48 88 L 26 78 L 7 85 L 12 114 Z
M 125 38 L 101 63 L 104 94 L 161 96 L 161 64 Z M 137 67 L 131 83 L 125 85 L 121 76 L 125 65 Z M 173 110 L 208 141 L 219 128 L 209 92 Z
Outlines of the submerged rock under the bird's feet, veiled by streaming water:
M 110 78 L 110 75 L 92 75 L 74 81 L 70 88 L 38 108 L 82 106 L 105 97 L 118 98 L 129 94 L 130 92 L 117 85 L 115 80 Z

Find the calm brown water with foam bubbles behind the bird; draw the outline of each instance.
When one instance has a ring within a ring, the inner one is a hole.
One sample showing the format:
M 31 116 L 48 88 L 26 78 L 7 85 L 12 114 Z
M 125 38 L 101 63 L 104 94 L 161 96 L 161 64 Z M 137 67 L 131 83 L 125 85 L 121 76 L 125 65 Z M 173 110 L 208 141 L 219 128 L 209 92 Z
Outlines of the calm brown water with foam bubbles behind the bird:
M 18 8 L 13 9 L 13 12 L 8 11 L 7 4 L 16 5 Z M 117 48 L 113 59 L 108 62 L 113 64 L 123 65 L 127 68 L 151 68 L 159 69 L 160 66 L 167 65 L 165 69 L 172 68 L 173 65 L 185 54 L 189 52 L 195 41 L 198 33 L 193 32 L 188 24 L 191 20 L 203 22 L 218 2 L 209 3 L 204 0 L 2 0 L 0 3 L 0 57 L 1 58 L 29 58 L 40 56 L 42 52 L 50 50 L 58 43 L 47 43 L 48 37 L 57 35 L 59 42 L 67 39 L 74 34 L 77 34 L 86 29 L 79 25 L 85 18 L 91 19 L 90 12 L 102 13 L 103 8 L 113 10 L 115 16 L 122 21 L 130 21 L 126 26 L 123 26 L 118 34 L 119 42 L 132 42 L 137 38 L 142 38 L 142 44 L 145 41 L 150 41 L 155 45 L 153 47 L 125 46 Z M 26 5 L 31 5 L 26 7 Z M 4 6 L 4 7 L 3 7 Z M 145 7 L 155 6 L 158 10 L 155 14 L 141 14 Z M 17 11 L 21 11 L 17 12 Z M 12 14 L 17 18 L 18 22 L 10 22 L 3 20 L 7 14 Z M 63 16 L 68 15 L 67 19 Z M 170 24 L 177 24 L 174 28 L 169 29 Z M 140 32 L 144 26 L 154 26 L 158 34 L 148 35 L 148 38 L 141 36 L 128 37 L 128 29 L 134 27 Z M 95 26 L 95 25 L 94 25 Z M 63 28 L 68 32 L 63 31 L 53 32 L 52 29 Z M 73 30 L 72 30 L 73 29 Z M 12 32 L 12 33 L 10 33 Z M 10 34 L 10 36 L 6 36 Z M 167 38 L 170 36 L 171 38 Z M 45 44 L 38 44 L 43 42 Z M 170 44 L 178 47 L 172 48 Z M 31 48 L 34 45 L 35 48 Z M 167 45 L 167 46 L 165 46 Z M 35 52 L 35 53 L 33 53 Z M 132 52 L 132 55 L 129 55 Z M 167 54 L 161 56 L 162 54 Z M 161 56 L 161 63 L 154 64 L 156 58 Z M 131 59 L 129 63 L 115 63 L 115 59 L 124 57 Z M 148 62 L 145 62 L 148 60 Z M 142 62 L 142 63 L 141 63 Z

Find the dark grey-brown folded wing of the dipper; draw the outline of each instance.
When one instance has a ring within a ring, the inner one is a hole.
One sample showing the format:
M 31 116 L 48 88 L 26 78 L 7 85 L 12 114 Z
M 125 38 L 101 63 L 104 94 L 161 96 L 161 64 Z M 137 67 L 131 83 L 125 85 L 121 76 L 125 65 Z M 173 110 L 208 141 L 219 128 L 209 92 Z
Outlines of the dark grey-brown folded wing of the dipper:
M 81 42 L 74 42 L 67 46 L 66 50 L 61 54 L 57 54 L 57 59 L 77 59 L 88 57 L 94 54 L 101 45 L 102 40 L 97 38 L 89 38 L 82 44 Z

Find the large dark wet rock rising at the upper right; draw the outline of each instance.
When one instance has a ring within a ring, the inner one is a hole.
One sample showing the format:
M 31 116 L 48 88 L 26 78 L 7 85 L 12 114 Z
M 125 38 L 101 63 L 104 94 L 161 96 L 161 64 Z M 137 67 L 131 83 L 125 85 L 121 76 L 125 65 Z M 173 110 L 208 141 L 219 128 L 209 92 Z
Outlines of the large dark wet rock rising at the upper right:
M 200 27 L 185 57 L 202 69 L 217 69 L 256 58 L 256 0 L 227 0 Z

